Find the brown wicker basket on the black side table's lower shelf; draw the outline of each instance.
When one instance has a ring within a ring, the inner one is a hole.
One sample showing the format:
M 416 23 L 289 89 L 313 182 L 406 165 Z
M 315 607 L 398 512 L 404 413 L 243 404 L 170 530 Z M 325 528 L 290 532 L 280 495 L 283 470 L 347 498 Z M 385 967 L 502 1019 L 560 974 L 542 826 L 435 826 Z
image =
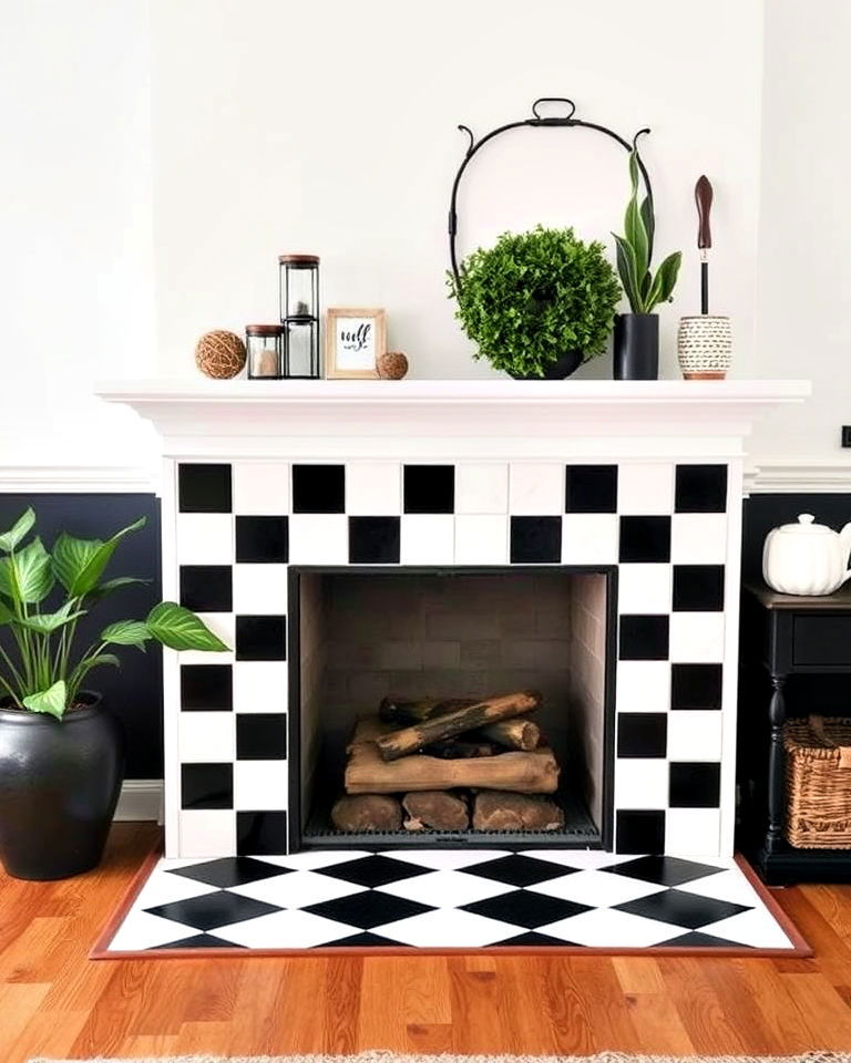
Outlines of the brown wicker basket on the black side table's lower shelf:
M 851 848 L 851 720 L 786 723 L 786 839 L 799 849 Z

